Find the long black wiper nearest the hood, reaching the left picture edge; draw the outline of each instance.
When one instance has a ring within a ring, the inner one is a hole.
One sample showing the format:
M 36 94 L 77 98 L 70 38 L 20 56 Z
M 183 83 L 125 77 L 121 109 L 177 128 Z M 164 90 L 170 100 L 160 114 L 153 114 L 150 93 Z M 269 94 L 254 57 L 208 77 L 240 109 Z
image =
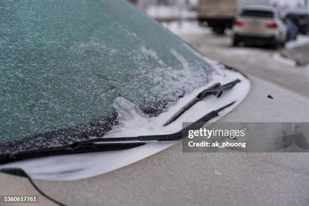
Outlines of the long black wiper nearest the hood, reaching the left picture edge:
M 212 111 L 203 116 L 193 124 L 180 130 L 179 132 L 166 135 L 148 135 L 136 137 L 119 137 L 119 138 L 97 138 L 86 141 L 75 142 L 67 146 L 47 147 L 42 149 L 13 151 L 7 153 L 0 153 L 0 164 L 14 162 L 17 160 L 24 160 L 30 158 L 55 156 L 55 155 L 68 155 L 74 153 L 87 153 L 98 151 L 115 151 L 130 149 L 138 146 L 145 145 L 145 141 L 176 141 L 183 138 L 182 132 L 189 127 L 192 129 L 201 128 L 200 123 L 207 123 L 210 120 L 219 116 L 219 113 L 228 107 L 231 107 L 235 102 L 228 104 L 216 111 Z M 197 124 L 199 123 L 199 124 Z M 134 141 L 134 142 L 130 142 Z

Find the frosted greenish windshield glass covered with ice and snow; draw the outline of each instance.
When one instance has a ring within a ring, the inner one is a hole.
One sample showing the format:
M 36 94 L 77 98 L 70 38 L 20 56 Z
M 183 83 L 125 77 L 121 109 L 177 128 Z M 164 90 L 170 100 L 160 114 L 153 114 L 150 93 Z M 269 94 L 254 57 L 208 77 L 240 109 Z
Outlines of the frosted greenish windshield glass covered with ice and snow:
M 0 152 L 102 136 L 121 99 L 156 116 L 215 71 L 121 0 L 2 1 L 0 17 Z

